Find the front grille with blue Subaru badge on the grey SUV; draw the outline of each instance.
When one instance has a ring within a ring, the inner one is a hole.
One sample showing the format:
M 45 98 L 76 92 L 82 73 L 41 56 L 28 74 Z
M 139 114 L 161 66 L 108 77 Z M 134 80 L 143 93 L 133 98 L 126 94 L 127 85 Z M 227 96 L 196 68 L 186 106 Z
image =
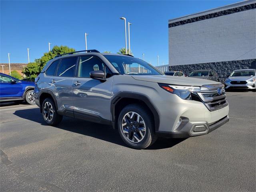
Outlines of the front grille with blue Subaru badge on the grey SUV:
M 221 89 L 221 91 L 219 90 L 218 92 L 218 89 Z M 197 94 L 201 102 L 203 102 L 210 111 L 228 106 L 223 84 L 204 85 L 201 88 L 201 92 Z

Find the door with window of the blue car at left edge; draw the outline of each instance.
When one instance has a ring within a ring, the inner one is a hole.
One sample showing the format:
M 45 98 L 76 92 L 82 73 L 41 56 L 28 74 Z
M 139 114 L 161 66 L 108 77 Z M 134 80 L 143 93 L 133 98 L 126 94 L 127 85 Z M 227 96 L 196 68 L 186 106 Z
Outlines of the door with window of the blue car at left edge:
M 21 97 L 22 96 L 22 84 L 19 81 L 11 83 L 12 78 L 0 74 L 0 97 Z

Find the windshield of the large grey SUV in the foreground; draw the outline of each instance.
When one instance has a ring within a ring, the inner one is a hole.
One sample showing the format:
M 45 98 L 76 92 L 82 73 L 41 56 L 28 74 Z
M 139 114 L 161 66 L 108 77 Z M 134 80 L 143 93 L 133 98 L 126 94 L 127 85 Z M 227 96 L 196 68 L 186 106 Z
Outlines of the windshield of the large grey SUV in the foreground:
M 152 65 L 139 58 L 122 55 L 104 55 L 104 57 L 106 57 L 122 75 L 162 75 L 162 73 Z

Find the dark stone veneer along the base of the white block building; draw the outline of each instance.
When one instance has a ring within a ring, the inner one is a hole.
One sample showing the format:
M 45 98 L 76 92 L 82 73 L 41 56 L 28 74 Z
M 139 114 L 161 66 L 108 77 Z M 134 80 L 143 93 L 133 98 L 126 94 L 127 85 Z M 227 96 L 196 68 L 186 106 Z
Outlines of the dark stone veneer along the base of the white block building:
M 215 70 L 219 77 L 220 82 L 224 83 L 227 76 L 236 69 L 256 69 L 256 59 L 236 60 L 236 61 L 223 61 L 212 63 L 200 63 L 189 65 L 176 65 L 169 66 L 170 71 L 182 71 L 189 75 L 194 70 L 212 69 Z

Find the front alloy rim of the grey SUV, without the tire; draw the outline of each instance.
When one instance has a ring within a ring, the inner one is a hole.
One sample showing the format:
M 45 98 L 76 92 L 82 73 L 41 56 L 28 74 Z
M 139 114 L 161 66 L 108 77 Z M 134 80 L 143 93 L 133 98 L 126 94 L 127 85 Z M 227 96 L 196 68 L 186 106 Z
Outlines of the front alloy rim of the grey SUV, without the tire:
M 140 114 L 128 112 L 122 119 L 122 132 L 133 143 L 143 140 L 146 135 L 146 124 Z

